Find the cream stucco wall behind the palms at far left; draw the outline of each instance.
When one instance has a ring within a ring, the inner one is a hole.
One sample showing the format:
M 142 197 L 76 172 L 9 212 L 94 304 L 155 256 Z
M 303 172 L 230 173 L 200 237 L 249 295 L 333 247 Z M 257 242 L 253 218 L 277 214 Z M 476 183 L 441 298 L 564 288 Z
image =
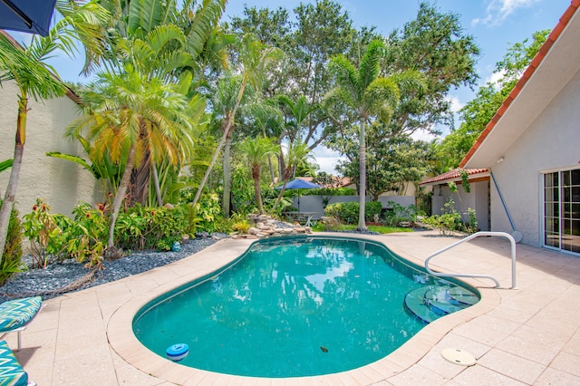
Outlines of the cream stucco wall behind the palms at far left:
M 17 88 L 13 82 L 0 87 L 0 160 L 14 157 L 16 132 Z M 53 213 L 70 215 L 79 201 L 94 203 L 95 180 L 88 170 L 73 162 L 46 157 L 47 151 L 61 151 L 82 156 L 77 141 L 65 140 L 63 130 L 77 118 L 79 109 L 74 101 L 64 96 L 54 100 L 29 101 L 16 207 L 23 215 L 32 210 L 36 198 L 43 198 Z M 4 198 L 11 169 L 0 173 L 0 194 Z

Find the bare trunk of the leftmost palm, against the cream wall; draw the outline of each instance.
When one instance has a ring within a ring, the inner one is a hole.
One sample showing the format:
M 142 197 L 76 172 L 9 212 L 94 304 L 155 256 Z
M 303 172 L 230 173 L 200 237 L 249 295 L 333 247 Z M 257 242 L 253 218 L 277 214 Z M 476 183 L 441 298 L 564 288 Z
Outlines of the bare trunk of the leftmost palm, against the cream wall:
M 10 214 L 14 201 L 16 200 L 16 189 L 22 169 L 22 159 L 24 155 L 24 142 L 26 141 L 26 116 L 28 115 L 28 99 L 20 96 L 18 98 L 18 121 L 16 122 L 16 139 L 14 144 L 14 159 L 10 170 L 10 179 L 4 196 L 2 207 L 0 207 L 0 262 L 4 256 L 6 236 L 8 236 L 8 226 L 10 224 Z

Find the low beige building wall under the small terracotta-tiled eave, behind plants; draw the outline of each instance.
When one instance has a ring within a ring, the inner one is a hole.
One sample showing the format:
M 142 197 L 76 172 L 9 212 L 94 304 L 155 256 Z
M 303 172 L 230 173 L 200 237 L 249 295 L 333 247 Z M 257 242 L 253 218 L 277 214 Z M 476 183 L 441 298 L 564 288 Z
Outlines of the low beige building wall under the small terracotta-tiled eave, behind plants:
M 466 193 L 461 185 L 457 185 L 457 191 L 452 192 L 447 184 L 433 187 L 432 208 L 433 215 L 441 215 L 443 206 L 453 199 L 454 207 L 461 214 L 464 222 L 469 222 L 468 208 L 475 210 L 478 219 L 479 230 L 489 230 L 488 227 L 488 181 L 471 182 L 470 193 Z

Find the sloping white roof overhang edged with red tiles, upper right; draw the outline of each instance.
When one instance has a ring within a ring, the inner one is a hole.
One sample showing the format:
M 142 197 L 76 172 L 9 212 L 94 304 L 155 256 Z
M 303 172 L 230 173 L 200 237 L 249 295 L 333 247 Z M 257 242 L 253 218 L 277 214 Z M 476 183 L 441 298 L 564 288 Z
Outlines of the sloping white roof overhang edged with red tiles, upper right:
M 580 71 L 578 6 L 573 0 L 460 167 L 491 168 Z

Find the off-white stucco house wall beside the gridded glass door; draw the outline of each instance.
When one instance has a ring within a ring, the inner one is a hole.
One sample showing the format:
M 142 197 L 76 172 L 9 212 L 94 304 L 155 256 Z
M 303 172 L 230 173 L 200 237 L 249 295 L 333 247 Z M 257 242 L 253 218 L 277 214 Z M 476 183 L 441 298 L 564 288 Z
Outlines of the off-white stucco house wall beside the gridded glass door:
M 490 168 L 514 227 L 522 233 L 523 244 L 542 245 L 541 173 L 574 167 L 580 162 L 578 106 L 580 72 L 575 73 L 536 121 L 506 151 L 504 160 Z M 512 232 L 495 187 L 491 188 L 491 229 Z

